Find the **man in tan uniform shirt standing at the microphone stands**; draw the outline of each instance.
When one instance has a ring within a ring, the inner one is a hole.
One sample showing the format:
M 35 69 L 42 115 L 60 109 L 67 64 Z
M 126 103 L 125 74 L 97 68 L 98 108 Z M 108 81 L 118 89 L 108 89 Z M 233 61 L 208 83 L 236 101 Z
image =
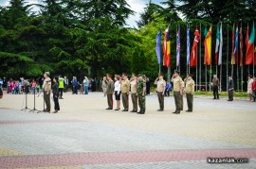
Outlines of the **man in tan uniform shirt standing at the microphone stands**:
M 44 89 L 44 100 L 46 102 L 46 112 L 50 112 L 50 89 L 51 89 L 51 80 L 49 78 L 49 72 L 46 72 L 45 75 L 45 80 L 43 84 L 43 89 Z

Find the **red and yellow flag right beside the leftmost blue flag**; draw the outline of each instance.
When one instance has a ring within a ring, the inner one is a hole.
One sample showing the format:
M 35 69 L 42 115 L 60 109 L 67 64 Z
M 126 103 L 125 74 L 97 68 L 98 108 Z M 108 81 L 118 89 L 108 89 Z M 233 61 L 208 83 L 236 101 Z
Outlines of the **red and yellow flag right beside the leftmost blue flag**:
M 170 42 L 170 30 L 169 26 L 164 31 L 164 42 L 163 42 L 163 65 L 171 66 L 171 42 Z

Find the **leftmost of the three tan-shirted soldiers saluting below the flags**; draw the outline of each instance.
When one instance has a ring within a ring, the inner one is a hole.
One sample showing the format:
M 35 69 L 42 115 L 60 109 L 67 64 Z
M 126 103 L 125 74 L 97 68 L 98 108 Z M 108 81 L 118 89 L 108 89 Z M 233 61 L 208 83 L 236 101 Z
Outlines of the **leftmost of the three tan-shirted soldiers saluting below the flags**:
M 163 79 L 163 74 L 158 74 L 158 77 L 155 79 L 156 92 L 158 95 L 159 107 L 160 109 L 157 111 L 164 110 L 164 91 L 166 86 L 166 81 Z

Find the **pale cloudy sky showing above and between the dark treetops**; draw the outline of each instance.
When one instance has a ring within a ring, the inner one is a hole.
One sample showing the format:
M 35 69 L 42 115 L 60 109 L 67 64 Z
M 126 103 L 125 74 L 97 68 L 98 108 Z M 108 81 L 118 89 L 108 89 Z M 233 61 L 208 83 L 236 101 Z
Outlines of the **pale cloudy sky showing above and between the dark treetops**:
M 137 26 L 136 21 L 139 20 L 139 13 L 144 10 L 146 4 L 149 3 L 149 0 L 126 0 L 127 3 L 131 6 L 132 10 L 136 11 L 137 13 L 134 16 L 130 16 L 127 20 L 127 25 L 130 26 Z M 159 4 L 165 0 L 152 0 L 153 3 Z M 28 3 L 38 3 L 40 0 L 27 0 Z M 9 0 L 0 0 L 0 6 L 8 6 Z

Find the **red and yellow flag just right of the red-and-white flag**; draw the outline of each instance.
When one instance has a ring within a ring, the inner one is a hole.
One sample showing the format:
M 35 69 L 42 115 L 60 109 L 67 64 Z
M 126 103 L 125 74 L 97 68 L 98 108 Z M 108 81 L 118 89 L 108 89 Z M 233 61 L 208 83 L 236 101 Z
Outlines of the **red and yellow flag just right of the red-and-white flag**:
M 211 64 L 211 25 L 209 31 L 205 38 L 205 59 L 204 64 L 210 65 Z

